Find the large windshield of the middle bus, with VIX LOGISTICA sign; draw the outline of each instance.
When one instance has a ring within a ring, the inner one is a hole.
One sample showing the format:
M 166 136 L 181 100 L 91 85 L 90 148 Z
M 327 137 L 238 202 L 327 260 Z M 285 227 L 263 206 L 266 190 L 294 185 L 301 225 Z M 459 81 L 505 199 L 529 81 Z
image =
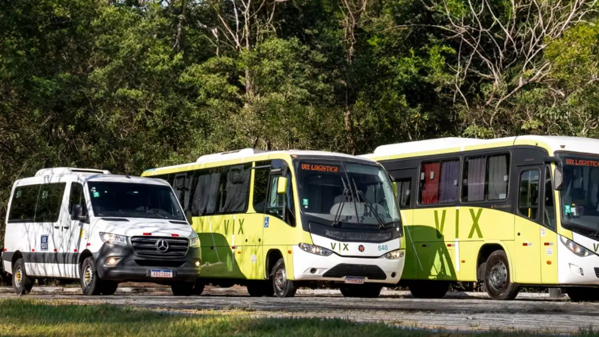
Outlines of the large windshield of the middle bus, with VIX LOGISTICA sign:
M 382 167 L 346 161 L 299 161 L 302 212 L 333 224 L 388 225 L 400 221 L 394 192 Z

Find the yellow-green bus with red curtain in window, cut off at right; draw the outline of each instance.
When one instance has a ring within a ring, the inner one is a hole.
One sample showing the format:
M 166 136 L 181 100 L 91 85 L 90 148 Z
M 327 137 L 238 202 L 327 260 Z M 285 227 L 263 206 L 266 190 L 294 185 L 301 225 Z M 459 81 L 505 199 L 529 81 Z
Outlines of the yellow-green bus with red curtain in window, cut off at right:
M 406 225 L 403 281 L 488 288 L 486 262 L 503 251 L 513 284 L 599 285 L 599 140 L 445 138 L 362 157 L 382 163 L 395 183 Z

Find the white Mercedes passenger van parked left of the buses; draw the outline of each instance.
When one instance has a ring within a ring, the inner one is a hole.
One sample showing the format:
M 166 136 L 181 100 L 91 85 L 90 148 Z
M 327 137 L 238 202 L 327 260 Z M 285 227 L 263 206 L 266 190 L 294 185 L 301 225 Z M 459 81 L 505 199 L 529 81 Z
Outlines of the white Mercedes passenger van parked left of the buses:
M 2 262 L 17 294 L 34 278 L 78 278 L 86 295 L 119 282 L 196 292 L 199 239 L 173 189 L 161 179 L 58 167 L 13 185 Z

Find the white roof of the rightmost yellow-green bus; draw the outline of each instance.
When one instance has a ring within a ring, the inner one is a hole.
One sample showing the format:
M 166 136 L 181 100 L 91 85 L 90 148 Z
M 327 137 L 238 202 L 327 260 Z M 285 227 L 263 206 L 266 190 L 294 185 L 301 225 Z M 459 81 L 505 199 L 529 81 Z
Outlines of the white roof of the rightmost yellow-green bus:
M 514 145 L 539 146 L 546 149 L 550 155 L 553 155 L 556 151 L 599 154 L 598 139 L 566 136 L 516 136 L 497 139 L 447 137 L 418 140 L 415 142 L 381 145 L 374 149 L 372 154 L 361 155 L 359 157 L 382 160 L 391 159 L 389 157 L 395 155 L 461 152 Z

